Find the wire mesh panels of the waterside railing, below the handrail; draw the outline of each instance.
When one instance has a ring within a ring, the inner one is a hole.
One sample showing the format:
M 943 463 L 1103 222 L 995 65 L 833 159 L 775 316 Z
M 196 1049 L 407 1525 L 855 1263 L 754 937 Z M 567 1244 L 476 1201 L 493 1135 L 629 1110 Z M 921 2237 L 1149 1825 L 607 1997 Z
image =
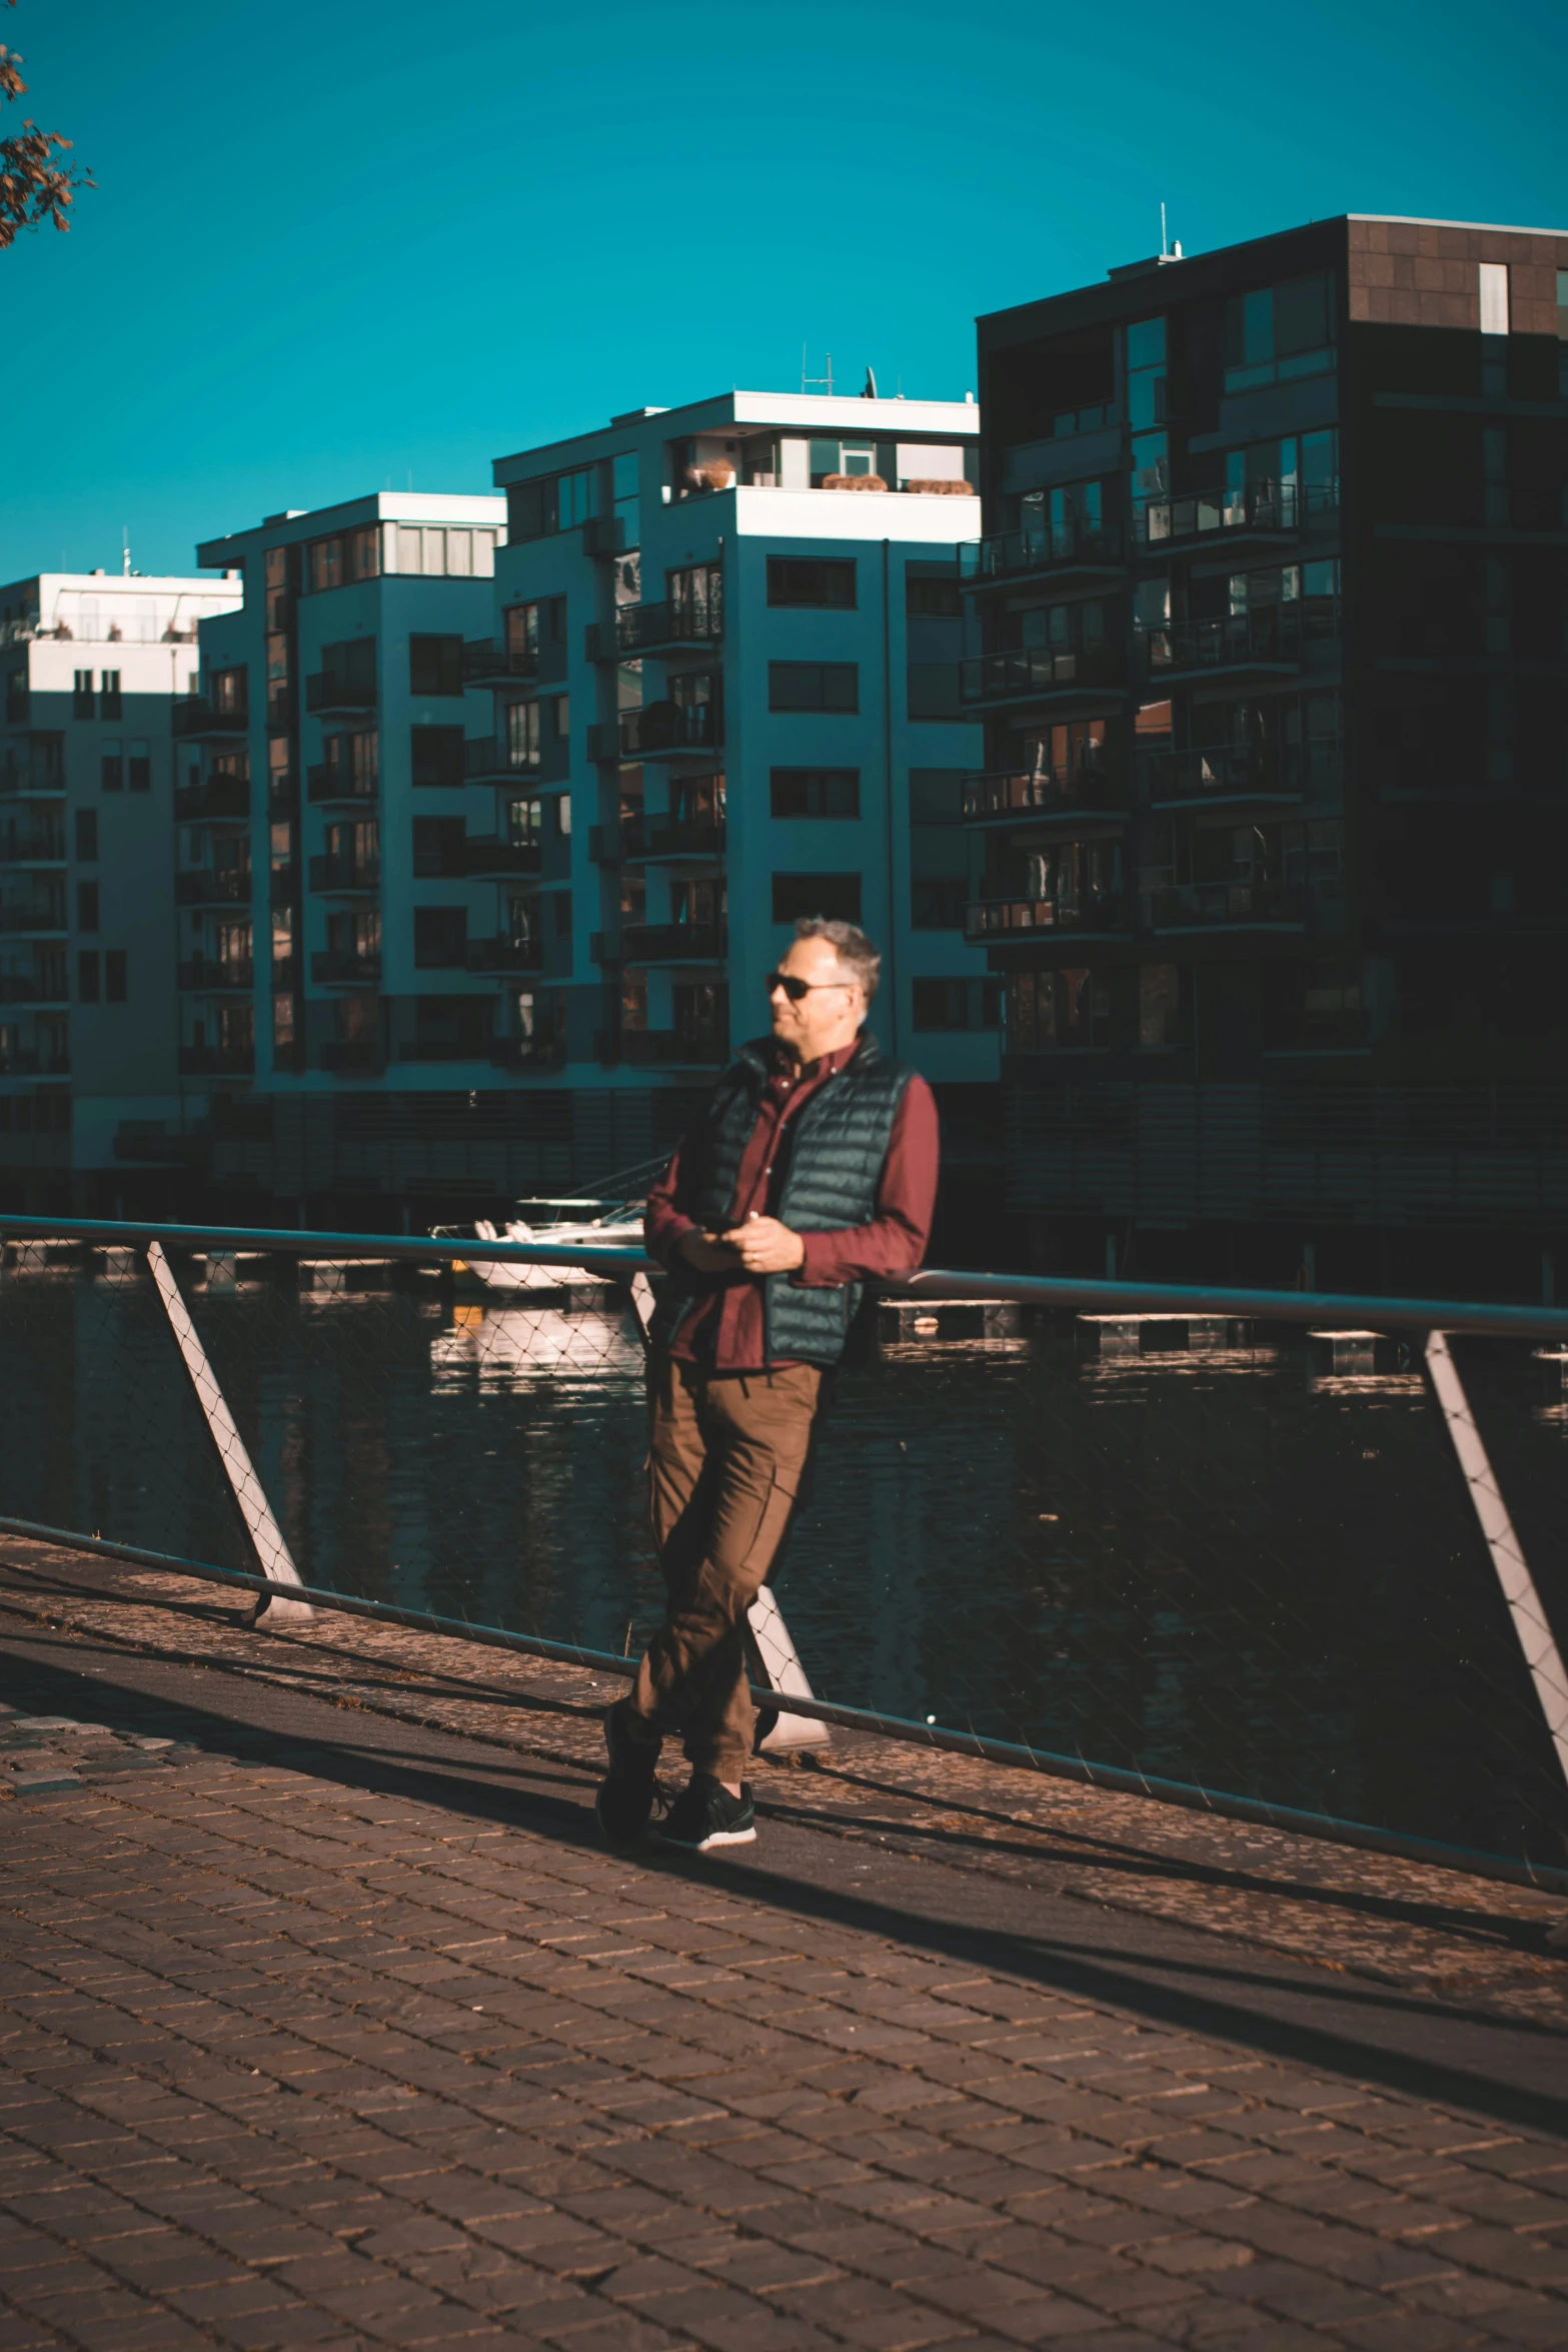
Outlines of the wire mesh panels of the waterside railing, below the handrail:
M 639 1649 L 663 1588 L 635 1261 L 167 1251 L 308 1585 Z M 813 1691 L 1561 1867 L 1563 1771 L 1420 1331 L 990 1289 L 886 1298 L 835 1383 L 773 1576 Z M 1568 1635 L 1563 1341 L 1453 1362 Z M 7 1237 L 0 1416 L 0 1517 L 256 1571 L 146 1237 Z

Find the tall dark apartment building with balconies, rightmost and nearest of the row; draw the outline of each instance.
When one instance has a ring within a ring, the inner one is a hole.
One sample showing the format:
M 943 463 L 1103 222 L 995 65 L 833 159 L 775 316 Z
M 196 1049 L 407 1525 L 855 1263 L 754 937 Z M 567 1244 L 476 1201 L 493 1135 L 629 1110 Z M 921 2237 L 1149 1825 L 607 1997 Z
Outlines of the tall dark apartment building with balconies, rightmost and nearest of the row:
M 980 320 L 969 936 L 1041 1263 L 1552 1284 L 1566 339 L 1568 235 L 1366 216 Z

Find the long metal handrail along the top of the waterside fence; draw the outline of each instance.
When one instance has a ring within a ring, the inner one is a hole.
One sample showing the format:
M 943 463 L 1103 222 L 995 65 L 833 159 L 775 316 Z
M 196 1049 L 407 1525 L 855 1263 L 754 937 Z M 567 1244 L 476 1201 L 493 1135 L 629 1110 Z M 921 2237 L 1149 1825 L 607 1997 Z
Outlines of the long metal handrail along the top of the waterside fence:
M 642 1249 L 583 1242 L 482 1242 L 407 1232 L 317 1232 L 310 1225 L 167 1225 L 89 1216 L 0 1214 L 2 1240 L 162 1242 L 165 1249 L 247 1249 L 315 1258 L 484 1258 L 498 1265 L 583 1265 L 628 1279 L 658 1270 Z M 1568 1338 L 1568 1303 L 1516 1308 L 1472 1298 L 1378 1298 L 1361 1291 L 1262 1291 L 1199 1282 L 1107 1282 L 1079 1275 L 985 1275 L 929 1265 L 879 1284 L 886 1298 L 1013 1301 L 1100 1315 L 1229 1315 L 1239 1322 L 1309 1322 L 1335 1329 L 1469 1331 L 1479 1338 Z

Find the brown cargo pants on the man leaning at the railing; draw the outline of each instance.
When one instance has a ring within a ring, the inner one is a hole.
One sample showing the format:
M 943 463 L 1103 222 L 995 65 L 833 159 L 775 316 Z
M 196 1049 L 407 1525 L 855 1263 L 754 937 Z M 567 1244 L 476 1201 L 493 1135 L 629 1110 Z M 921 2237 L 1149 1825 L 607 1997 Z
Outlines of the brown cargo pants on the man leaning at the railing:
M 668 1588 L 637 1682 L 644 1736 L 679 1731 L 686 1762 L 738 1780 L 752 1752 L 745 1611 L 799 1498 L 823 1374 L 816 1364 L 708 1378 L 649 1364 L 649 1503 Z

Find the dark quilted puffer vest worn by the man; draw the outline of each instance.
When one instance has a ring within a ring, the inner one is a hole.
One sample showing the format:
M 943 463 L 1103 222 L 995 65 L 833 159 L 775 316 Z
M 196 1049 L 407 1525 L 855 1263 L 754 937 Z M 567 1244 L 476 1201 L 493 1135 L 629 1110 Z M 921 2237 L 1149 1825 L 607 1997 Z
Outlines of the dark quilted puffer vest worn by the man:
M 693 1176 L 691 1216 L 708 1232 L 729 1223 L 741 1160 L 757 1124 L 769 1082 L 766 1040 L 743 1044 L 708 1098 L 708 1110 L 682 1145 Z M 893 1115 L 910 1084 L 903 1063 L 884 1061 L 870 1030 L 853 1056 L 827 1077 L 804 1110 L 785 1120 L 780 1148 L 788 1155 L 776 1216 L 797 1232 L 839 1232 L 870 1225 L 877 1185 L 893 1134 Z M 654 1315 L 654 1343 L 668 1348 L 686 1322 L 705 1284 L 677 1263 Z M 764 1277 L 766 1359 L 837 1364 L 860 1305 L 863 1284 L 842 1282 L 806 1289 L 790 1275 Z

